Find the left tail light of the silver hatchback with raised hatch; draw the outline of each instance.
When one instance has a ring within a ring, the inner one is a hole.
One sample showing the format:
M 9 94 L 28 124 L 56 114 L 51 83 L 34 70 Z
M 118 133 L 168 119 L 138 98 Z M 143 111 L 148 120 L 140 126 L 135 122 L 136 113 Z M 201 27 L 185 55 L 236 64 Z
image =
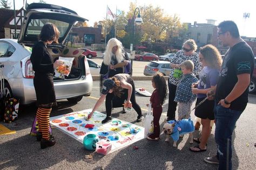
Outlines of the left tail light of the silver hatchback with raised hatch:
M 26 79 L 33 79 L 35 77 L 35 72 L 33 71 L 32 63 L 30 61 L 30 56 L 26 56 L 21 60 L 22 75 Z

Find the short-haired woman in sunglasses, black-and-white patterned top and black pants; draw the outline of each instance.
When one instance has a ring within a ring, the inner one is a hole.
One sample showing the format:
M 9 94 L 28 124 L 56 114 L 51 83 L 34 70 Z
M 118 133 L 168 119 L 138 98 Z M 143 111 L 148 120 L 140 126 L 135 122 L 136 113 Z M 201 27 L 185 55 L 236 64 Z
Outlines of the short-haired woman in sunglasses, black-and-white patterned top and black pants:
M 176 88 L 178 83 L 180 82 L 182 72 L 180 69 L 180 64 L 183 61 L 191 60 L 194 63 L 194 75 L 198 76 L 202 66 L 199 62 L 196 42 L 193 39 L 186 40 L 183 44 L 183 48 L 174 55 L 172 60 L 170 61 L 171 72 L 168 80 L 168 88 L 169 88 L 169 104 L 167 110 L 167 121 L 171 121 L 175 119 L 175 111 L 177 108 L 177 102 L 174 101 L 176 95 Z

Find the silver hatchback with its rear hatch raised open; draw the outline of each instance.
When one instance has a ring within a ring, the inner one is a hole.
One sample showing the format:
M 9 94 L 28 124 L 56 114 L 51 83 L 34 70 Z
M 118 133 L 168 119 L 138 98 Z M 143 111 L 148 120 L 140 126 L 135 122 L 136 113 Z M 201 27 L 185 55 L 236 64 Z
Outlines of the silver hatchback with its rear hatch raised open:
M 6 96 L 17 97 L 21 104 L 36 102 L 33 86 L 34 72 L 30 55 L 32 46 L 38 41 L 38 34 L 44 23 L 47 22 L 55 23 L 60 31 L 59 44 L 48 45 L 48 51 L 52 58 L 74 56 L 69 76 L 65 76 L 65 79 L 57 77 L 53 79 L 57 100 L 67 98 L 70 102 L 78 102 L 82 100 L 83 96 L 90 95 L 92 76 L 86 56 L 79 49 L 63 45 L 72 26 L 77 21 L 85 22 L 85 20 L 79 17 L 75 11 L 62 6 L 44 3 L 28 5 L 18 41 L 0 39 L 0 63 L 4 65 Z M 77 54 L 77 52 L 80 53 Z

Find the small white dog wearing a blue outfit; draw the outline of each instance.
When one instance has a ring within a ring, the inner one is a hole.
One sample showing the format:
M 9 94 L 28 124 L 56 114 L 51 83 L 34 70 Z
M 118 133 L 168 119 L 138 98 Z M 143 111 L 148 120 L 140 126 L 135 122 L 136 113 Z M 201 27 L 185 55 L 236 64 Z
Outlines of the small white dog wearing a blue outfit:
M 163 132 L 161 134 L 166 134 L 165 141 L 169 141 L 170 137 L 173 139 L 173 147 L 177 147 L 177 141 L 179 136 L 189 133 L 190 134 L 190 144 L 193 144 L 193 132 L 194 124 L 191 119 L 181 119 L 179 121 L 168 121 L 164 120 Z

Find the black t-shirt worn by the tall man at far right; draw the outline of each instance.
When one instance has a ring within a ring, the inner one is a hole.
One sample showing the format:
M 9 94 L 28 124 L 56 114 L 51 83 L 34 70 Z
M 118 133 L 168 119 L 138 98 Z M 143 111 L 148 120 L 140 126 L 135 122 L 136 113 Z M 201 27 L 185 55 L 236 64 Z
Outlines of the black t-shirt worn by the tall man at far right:
M 237 75 L 253 73 L 254 55 L 252 48 L 245 41 L 235 44 L 224 56 L 219 81 L 216 89 L 215 100 L 218 103 L 231 93 L 238 81 Z M 231 102 L 230 109 L 243 111 L 248 102 L 248 88 L 245 92 Z

